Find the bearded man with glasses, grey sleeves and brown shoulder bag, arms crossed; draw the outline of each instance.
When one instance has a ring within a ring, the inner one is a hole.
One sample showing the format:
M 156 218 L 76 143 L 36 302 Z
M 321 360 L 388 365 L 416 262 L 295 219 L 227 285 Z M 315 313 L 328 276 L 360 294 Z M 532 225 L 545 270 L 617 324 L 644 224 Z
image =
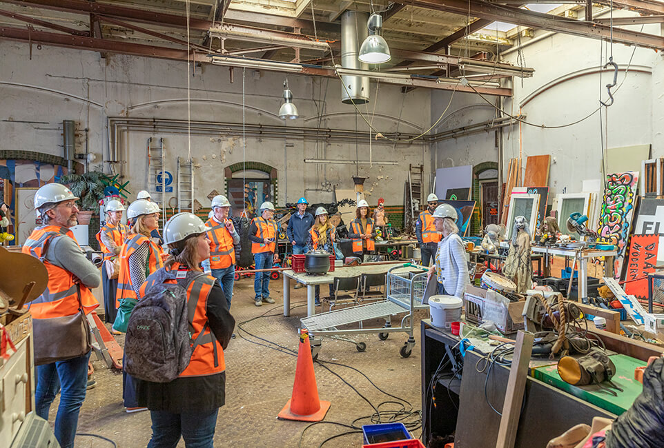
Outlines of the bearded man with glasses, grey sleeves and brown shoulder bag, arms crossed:
M 78 224 L 76 205 L 78 198 L 64 185 L 48 183 L 35 193 L 35 208 L 43 225 L 32 231 L 23 253 L 43 261 L 48 272 L 48 283 L 41 296 L 30 303 L 34 355 L 37 367 L 35 377 L 35 413 L 48 420 L 51 403 L 60 391 L 58 417 L 55 420 L 55 438 L 61 447 L 72 448 L 79 420 L 79 411 L 86 398 L 88 383 L 88 360 L 90 352 L 71 356 L 71 349 L 84 346 L 89 338 L 84 331 L 53 332 L 52 322 L 57 318 L 73 318 L 82 309 L 90 314 L 99 306 L 91 288 L 99 286 L 99 269 L 79 247 L 70 230 Z M 81 327 L 81 321 L 71 320 Z M 59 349 L 68 352 L 68 357 L 54 362 L 41 363 L 41 359 Z M 32 355 L 31 355 L 32 356 Z

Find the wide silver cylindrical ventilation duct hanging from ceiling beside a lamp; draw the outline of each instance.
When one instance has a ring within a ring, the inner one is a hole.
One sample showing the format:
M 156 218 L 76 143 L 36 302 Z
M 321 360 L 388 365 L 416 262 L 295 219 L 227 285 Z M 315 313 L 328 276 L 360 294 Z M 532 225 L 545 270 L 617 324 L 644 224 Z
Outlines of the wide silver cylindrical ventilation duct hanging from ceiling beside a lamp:
M 355 70 L 369 70 L 369 64 L 360 62 L 360 43 L 369 35 L 369 12 L 346 11 L 341 15 L 341 66 Z M 369 103 L 369 78 L 342 76 L 341 102 L 344 104 Z

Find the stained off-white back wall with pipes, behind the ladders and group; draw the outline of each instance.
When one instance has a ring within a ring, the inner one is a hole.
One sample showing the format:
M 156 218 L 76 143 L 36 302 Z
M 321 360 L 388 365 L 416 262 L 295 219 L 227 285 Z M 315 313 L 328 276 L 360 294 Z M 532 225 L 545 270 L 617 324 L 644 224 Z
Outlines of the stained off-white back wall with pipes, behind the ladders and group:
M 32 60 L 28 59 L 28 45 L 10 41 L 0 42 L 0 149 L 31 150 L 62 155 L 61 121 L 77 123 L 77 152 L 85 150 L 88 132 L 90 152 L 97 155 L 96 165 L 109 158 L 108 117 L 140 117 L 158 119 L 187 119 L 186 63 L 111 55 L 102 59 L 99 53 L 32 46 Z M 282 101 L 285 74 L 246 70 L 246 122 L 281 125 L 276 114 Z M 234 82 L 229 81 L 228 68 L 205 64 L 197 67 L 191 83 L 191 119 L 242 123 L 242 69 L 235 68 Z M 352 105 L 340 101 L 340 83 L 336 79 L 321 79 L 289 75 L 294 102 L 301 119 L 288 125 L 317 126 L 316 103 L 323 110 L 321 128 L 355 130 Z M 372 102 L 363 108 L 373 114 L 373 125 L 381 132 L 419 133 L 429 127 L 430 93 L 418 89 L 403 94 L 396 86 L 371 84 Z M 376 101 L 377 99 L 377 101 Z M 403 104 L 403 110 L 402 110 Z M 374 109 L 375 108 L 375 109 Z M 401 123 L 398 124 L 401 117 Z M 19 123 L 30 121 L 30 123 Z M 358 130 L 368 130 L 358 117 Z M 120 150 L 126 164 L 117 166 L 130 181 L 132 192 L 147 185 L 146 141 L 148 137 L 164 137 L 169 159 L 167 167 L 175 171 L 175 159 L 188 154 L 186 134 L 166 134 L 130 130 L 121 136 Z M 286 147 L 288 143 L 293 147 Z M 369 159 L 369 147 L 359 145 L 360 159 Z M 355 160 L 355 143 L 331 142 L 324 138 L 284 141 L 284 138 L 248 138 L 246 160 L 261 161 L 277 168 L 279 179 L 278 203 L 293 202 L 304 194 L 304 188 L 320 188 L 329 182 L 338 188 L 353 187 L 354 165 L 315 165 L 304 159 Z M 365 190 L 369 202 L 379 196 L 387 204 L 402 203 L 403 185 L 408 164 L 424 163 L 430 170 L 429 145 L 413 143 L 396 145 L 373 142 L 374 161 L 398 161 L 400 165 L 363 165 L 360 176 L 369 176 Z M 191 137 L 191 155 L 197 165 L 195 197 L 209 205 L 207 194 L 224 188 L 224 167 L 241 162 L 242 139 L 225 135 Z M 104 163 L 105 170 L 110 165 Z M 380 178 L 380 179 L 379 179 Z M 168 194 L 167 194 L 168 196 Z M 328 192 L 307 192 L 310 201 L 330 201 Z

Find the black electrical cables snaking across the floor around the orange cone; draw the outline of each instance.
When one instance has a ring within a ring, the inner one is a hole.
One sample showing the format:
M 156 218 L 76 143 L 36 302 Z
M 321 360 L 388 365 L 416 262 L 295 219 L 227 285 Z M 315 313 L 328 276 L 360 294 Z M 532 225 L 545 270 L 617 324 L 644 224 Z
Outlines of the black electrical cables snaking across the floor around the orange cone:
M 304 307 L 304 306 L 306 306 L 306 302 L 302 302 L 300 305 L 295 305 L 295 306 L 291 307 L 291 309 L 293 309 L 295 307 Z M 246 324 L 251 323 L 254 320 L 257 320 L 257 319 L 260 319 L 260 318 L 266 318 L 266 317 L 280 316 L 281 315 L 280 313 L 279 314 L 269 314 L 270 312 L 274 311 L 277 308 L 279 308 L 279 306 L 266 310 L 266 312 L 264 312 L 260 316 L 255 316 L 251 319 L 244 320 L 243 322 L 238 323 L 237 324 L 238 333 L 240 334 L 241 338 L 243 338 L 244 340 L 246 340 L 249 343 L 253 343 L 253 344 L 256 344 L 256 345 L 261 345 L 262 347 L 267 347 L 267 348 L 273 349 L 277 352 L 281 352 L 281 353 L 284 353 L 284 354 L 288 354 L 288 355 L 297 357 L 297 351 L 295 351 L 293 349 L 290 349 L 289 347 L 286 347 L 285 345 L 280 345 L 278 343 L 275 343 L 272 340 L 268 340 L 266 338 L 262 338 L 260 336 L 257 336 L 255 334 L 249 332 L 245 328 Z M 263 342 L 261 343 L 261 342 L 255 341 L 255 340 L 251 340 L 251 339 L 247 338 L 246 336 L 244 336 L 244 334 L 242 334 L 242 332 L 246 333 L 248 336 L 251 336 L 252 338 L 256 338 L 256 339 L 261 340 Z M 373 408 L 374 413 L 369 414 L 367 416 L 361 416 L 359 418 L 356 418 L 355 420 L 353 420 L 353 423 L 351 425 L 348 425 L 346 423 L 340 423 L 340 422 L 331 422 L 329 420 L 327 420 L 327 421 L 323 420 L 321 422 L 311 423 L 311 425 L 306 426 L 302 430 L 302 434 L 300 435 L 300 446 L 302 446 L 302 440 L 304 439 L 305 431 L 307 429 L 315 426 L 315 425 L 338 425 L 338 426 L 346 427 L 346 428 L 349 428 L 349 429 L 353 429 L 353 431 L 346 431 L 344 433 L 335 434 L 334 436 L 326 438 L 325 440 L 322 441 L 322 443 L 319 445 L 319 447 L 322 447 L 327 442 L 329 442 L 330 440 L 333 440 L 335 438 L 346 436 L 348 434 L 356 434 L 356 433 L 362 432 L 362 427 L 357 425 L 357 423 L 360 420 L 370 420 L 372 423 L 399 421 L 399 422 L 403 422 L 404 426 L 407 427 L 407 429 L 409 429 L 409 431 L 416 431 L 417 429 L 419 429 L 421 427 L 421 425 L 422 425 L 421 411 L 413 411 L 413 407 L 412 407 L 411 403 L 408 402 L 408 400 L 404 400 L 403 398 L 399 398 L 397 396 L 389 394 L 388 392 L 380 389 L 380 387 L 378 387 L 378 385 L 375 385 L 375 383 L 373 383 L 373 381 L 369 378 L 369 376 L 364 374 L 364 372 L 360 371 L 360 369 L 357 369 L 355 367 L 352 367 L 350 365 L 345 365 L 345 364 L 342 364 L 342 363 L 335 363 L 333 361 L 316 360 L 315 362 L 318 363 L 318 365 L 320 365 L 321 367 L 323 367 L 327 371 L 329 371 L 334 376 L 337 376 L 340 380 L 342 380 L 342 382 L 344 384 L 346 384 L 348 387 L 353 389 L 353 391 L 355 391 L 355 394 L 358 394 L 358 396 L 360 396 L 360 398 L 362 398 L 362 400 L 366 401 Z M 349 383 L 349 381 L 344 379 L 338 372 L 333 371 L 326 364 L 338 365 L 340 367 L 346 367 L 347 369 L 351 369 L 353 371 L 356 371 L 360 375 L 364 376 L 364 378 L 366 378 L 369 381 L 369 383 L 373 387 L 375 387 L 375 389 L 380 391 L 382 394 L 385 394 L 387 396 L 390 396 L 391 398 L 395 398 L 396 400 L 400 400 L 400 401 L 396 402 L 396 401 L 392 401 L 392 400 L 387 400 L 387 401 L 384 401 L 382 403 L 379 403 L 378 406 L 373 405 L 373 403 L 371 403 L 371 400 L 369 400 L 367 397 L 363 396 L 360 393 L 360 391 L 358 391 L 357 388 L 355 388 L 351 383 Z M 400 403 L 400 402 L 402 402 L 402 403 Z M 405 405 L 404 405 L 404 403 L 405 403 Z M 385 407 L 386 405 L 398 405 L 398 406 L 400 406 L 400 409 L 387 409 L 387 410 L 386 409 L 381 409 L 382 407 Z M 409 420 L 409 418 L 411 420 Z

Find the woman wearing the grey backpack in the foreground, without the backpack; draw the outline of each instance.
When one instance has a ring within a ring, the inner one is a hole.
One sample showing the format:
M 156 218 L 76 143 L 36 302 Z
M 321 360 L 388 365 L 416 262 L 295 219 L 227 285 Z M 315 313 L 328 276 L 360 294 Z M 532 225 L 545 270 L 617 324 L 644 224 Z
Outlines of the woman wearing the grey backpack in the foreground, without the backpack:
M 192 340 L 203 334 L 189 364 L 170 383 L 136 380 L 138 403 L 150 409 L 152 438 L 148 447 L 212 447 L 219 407 L 226 402 L 224 350 L 231 340 L 235 319 L 219 282 L 201 272 L 210 257 L 208 227 L 191 213 L 173 215 L 164 225 L 169 248 L 164 267 L 148 276 L 141 296 L 162 292 L 179 283 L 187 289 L 187 303 L 195 303 L 189 316 Z M 187 287 L 191 282 L 191 286 Z M 127 338 L 131 335 L 128 334 Z

